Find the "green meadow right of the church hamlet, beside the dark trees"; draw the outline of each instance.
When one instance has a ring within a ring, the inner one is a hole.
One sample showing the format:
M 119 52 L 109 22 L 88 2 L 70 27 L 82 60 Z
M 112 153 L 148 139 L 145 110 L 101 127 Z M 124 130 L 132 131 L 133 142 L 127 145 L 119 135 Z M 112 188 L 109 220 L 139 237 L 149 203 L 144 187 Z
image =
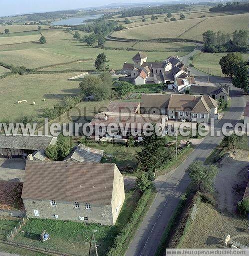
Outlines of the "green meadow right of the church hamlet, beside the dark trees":
M 209 71 L 212 75 L 224 76 L 219 61 L 226 55 L 227 53 L 201 53 L 195 58 L 193 65 L 206 73 Z M 248 54 L 242 56 L 245 61 L 248 60 Z

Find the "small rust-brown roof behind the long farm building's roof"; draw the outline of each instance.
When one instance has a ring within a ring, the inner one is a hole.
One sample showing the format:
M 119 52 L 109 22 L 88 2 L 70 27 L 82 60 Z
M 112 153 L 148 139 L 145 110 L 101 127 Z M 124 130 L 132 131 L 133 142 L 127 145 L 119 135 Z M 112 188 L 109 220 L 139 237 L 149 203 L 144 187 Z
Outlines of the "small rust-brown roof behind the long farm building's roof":
M 140 102 L 117 102 L 112 101 L 107 107 L 107 112 L 135 113 L 140 106 Z

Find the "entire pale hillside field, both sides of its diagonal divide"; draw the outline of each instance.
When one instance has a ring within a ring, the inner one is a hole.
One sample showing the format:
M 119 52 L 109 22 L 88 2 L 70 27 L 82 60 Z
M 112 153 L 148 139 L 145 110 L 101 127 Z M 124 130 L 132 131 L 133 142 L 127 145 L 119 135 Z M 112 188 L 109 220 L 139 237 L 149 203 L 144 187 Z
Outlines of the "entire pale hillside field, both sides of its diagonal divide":
M 145 22 L 146 23 L 146 22 Z M 202 33 L 207 30 L 222 30 L 233 33 L 236 29 L 248 28 L 248 13 L 221 15 L 205 18 L 187 18 L 185 20 L 163 23 L 141 24 L 132 28 L 112 33 L 114 37 L 128 39 L 184 38 L 202 40 Z

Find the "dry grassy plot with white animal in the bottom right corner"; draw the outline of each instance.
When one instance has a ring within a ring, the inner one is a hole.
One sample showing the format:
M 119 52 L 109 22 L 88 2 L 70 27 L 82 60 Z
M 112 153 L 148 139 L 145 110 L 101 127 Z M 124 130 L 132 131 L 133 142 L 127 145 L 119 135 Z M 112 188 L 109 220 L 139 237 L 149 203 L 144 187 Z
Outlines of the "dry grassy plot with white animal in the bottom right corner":
M 189 228 L 181 248 L 225 248 L 225 237 L 248 245 L 248 223 L 229 213 L 221 213 L 210 204 L 200 202 L 196 218 Z

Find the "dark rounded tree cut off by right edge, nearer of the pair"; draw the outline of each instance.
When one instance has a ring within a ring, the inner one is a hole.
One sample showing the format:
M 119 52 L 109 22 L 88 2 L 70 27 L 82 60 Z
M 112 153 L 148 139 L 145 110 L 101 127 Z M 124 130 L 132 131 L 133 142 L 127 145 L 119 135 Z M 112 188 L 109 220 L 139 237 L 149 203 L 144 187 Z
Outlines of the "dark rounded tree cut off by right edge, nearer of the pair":
M 249 92 L 249 79 L 248 79 L 248 65 L 242 63 L 239 65 L 234 73 L 233 85 L 237 88 L 243 89 L 245 93 Z

